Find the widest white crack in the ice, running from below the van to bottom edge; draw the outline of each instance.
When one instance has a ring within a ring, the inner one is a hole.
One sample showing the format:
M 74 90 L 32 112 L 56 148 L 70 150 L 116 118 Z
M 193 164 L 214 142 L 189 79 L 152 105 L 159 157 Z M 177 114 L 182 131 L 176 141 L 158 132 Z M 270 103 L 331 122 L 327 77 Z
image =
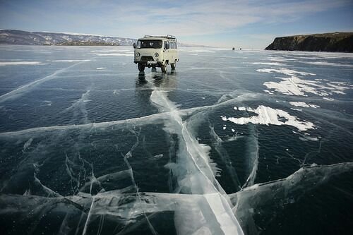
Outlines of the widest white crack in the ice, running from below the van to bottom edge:
M 177 192 L 191 193 L 205 195 L 206 200 L 203 207 L 210 207 L 215 219 L 219 224 L 215 224 L 212 229 L 219 227 L 219 231 L 196 230 L 193 234 L 203 234 L 210 232 L 210 234 L 243 234 L 237 219 L 232 213 L 229 213 L 230 205 L 227 201 L 227 195 L 223 195 L 225 191 L 215 179 L 215 171 L 212 170 L 209 158 L 210 147 L 201 145 L 196 138 L 188 130 L 184 121 L 182 121 L 177 109 L 177 105 L 171 102 L 166 95 L 167 92 L 155 88 L 151 94 L 151 101 L 159 107 L 162 112 L 169 112 L 169 119 L 165 120 L 164 130 L 170 134 L 177 134 L 179 136 L 179 153 L 177 164 L 172 166 L 172 172 L 178 179 Z M 213 196 L 210 196 L 212 194 Z M 186 213 L 192 212 L 189 208 L 185 208 Z M 184 214 L 184 213 L 183 213 Z M 192 214 L 191 214 L 192 215 Z M 186 219 L 184 215 L 175 218 L 177 221 L 177 229 L 180 234 L 190 234 L 191 231 L 184 231 L 188 228 L 189 221 L 210 221 L 208 217 L 200 217 L 193 215 L 193 219 Z

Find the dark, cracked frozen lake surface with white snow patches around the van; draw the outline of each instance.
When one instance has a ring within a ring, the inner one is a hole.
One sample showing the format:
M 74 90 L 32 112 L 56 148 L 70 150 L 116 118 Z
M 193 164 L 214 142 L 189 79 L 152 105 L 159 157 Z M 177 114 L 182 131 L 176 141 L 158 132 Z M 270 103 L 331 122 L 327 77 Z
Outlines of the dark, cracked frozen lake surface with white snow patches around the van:
M 2 234 L 353 233 L 353 54 L 0 52 Z

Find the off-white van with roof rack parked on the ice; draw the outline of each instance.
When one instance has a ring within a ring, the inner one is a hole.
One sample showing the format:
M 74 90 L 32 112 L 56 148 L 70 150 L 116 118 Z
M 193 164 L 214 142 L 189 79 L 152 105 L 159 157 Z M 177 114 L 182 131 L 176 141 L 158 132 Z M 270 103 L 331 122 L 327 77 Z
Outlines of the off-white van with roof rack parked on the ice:
M 138 65 L 138 71 L 145 71 L 145 67 L 160 67 L 162 73 L 167 73 L 168 64 L 175 69 L 179 61 L 177 38 L 172 35 L 150 36 L 145 35 L 133 44 L 133 62 Z

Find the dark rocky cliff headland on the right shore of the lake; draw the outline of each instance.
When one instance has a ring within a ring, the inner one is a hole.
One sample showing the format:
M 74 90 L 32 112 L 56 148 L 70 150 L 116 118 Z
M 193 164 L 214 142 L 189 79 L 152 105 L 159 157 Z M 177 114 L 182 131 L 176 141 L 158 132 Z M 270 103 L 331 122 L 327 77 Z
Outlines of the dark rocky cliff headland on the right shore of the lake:
M 266 50 L 353 52 L 353 32 L 276 37 Z

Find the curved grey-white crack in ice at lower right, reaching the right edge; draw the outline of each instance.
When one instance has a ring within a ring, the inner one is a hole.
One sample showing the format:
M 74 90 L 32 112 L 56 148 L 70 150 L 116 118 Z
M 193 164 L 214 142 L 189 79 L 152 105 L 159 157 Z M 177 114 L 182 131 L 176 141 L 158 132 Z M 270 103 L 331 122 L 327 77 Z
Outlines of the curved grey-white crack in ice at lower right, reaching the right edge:
M 287 204 L 295 203 L 306 192 L 313 191 L 314 188 L 320 187 L 331 178 L 348 172 L 352 173 L 352 171 L 352 162 L 302 167 L 285 179 L 258 183 L 230 195 L 235 205 L 234 213 L 244 231 L 249 234 L 258 234 L 258 228 L 254 221 L 257 213 L 264 213 L 266 209 L 271 213 L 276 210 L 275 208 L 284 208 Z M 270 219 L 273 217 L 274 215 L 270 215 Z

